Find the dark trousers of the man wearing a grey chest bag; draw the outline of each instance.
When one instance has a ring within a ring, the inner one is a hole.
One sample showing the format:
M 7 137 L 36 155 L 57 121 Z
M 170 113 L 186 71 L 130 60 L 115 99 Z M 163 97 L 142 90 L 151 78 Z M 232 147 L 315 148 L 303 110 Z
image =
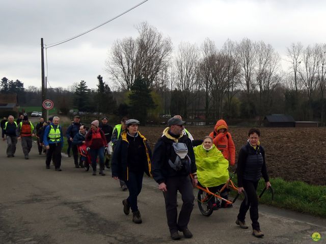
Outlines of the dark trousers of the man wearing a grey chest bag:
M 164 192 L 165 208 L 170 232 L 187 228 L 194 208 L 193 184 L 188 175 L 170 177 L 166 180 L 167 192 Z M 178 217 L 177 192 L 181 193 L 182 207 Z

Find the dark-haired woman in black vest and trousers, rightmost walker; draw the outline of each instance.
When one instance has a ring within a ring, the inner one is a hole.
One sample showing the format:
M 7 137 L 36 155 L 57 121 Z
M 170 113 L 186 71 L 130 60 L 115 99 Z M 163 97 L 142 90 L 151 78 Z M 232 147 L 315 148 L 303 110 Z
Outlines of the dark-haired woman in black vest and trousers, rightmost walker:
M 248 204 L 242 201 L 236 224 L 242 229 L 248 229 L 244 219 L 250 208 L 250 219 L 252 221 L 253 235 L 262 237 L 258 222 L 258 197 L 257 186 L 261 176 L 265 180 L 266 188 L 270 186 L 265 162 L 265 150 L 259 142 L 260 130 L 252 128 L 248 132 L 248 143 L 241 147 L 238 155 L 238 193 L 243 190 L 248 195 Z

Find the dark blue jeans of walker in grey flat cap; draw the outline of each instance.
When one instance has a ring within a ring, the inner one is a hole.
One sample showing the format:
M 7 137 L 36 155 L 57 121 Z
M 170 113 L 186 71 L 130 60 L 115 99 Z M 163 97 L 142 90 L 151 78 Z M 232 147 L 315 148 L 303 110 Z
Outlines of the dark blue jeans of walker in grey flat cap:
M 137 197 L 142 191 L 143 176 L 144 172 L 134 173 L 129 171 L 128 180 L 125 181 L 129 190 L 129 197 L 127 198 L 127 201 L 132 212 L 138 211 Z

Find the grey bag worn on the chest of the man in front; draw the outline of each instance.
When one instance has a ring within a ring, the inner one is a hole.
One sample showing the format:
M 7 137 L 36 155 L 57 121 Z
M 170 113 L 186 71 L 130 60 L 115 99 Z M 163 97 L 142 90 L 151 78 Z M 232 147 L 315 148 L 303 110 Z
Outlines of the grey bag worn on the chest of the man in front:
M 174 158 L 174 154 L 175 156 L 175 160 L 174 162 L 172 162 L 171 159 L 169 159 L 169 165 L 172 169 L 174 169 L 175 171 L 181 171 L 184 170 L 187 174 L 191 173 L 191 166 L 192 166 L 192 162 L 191 159 L 188 156 L 188 148 L 186 146 L 185 143 L 173 143 L 172 144 L 172 155 Z

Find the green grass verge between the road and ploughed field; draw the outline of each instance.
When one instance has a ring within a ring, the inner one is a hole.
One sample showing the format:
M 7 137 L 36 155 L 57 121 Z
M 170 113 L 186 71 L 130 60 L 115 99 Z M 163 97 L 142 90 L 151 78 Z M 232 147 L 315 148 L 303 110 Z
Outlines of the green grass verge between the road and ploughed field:
M 236 181 L 235 177 L 234 182 Z M 326 218 L 326 186 L 285 181 L 281 178 L 270 179 L 270 184 L 274 189 L 274 200 L 271 200 L 270 191 L 266 191 L 259 203 Z M 258 195 L 264 187 L 264 180 L 260 180 Z

